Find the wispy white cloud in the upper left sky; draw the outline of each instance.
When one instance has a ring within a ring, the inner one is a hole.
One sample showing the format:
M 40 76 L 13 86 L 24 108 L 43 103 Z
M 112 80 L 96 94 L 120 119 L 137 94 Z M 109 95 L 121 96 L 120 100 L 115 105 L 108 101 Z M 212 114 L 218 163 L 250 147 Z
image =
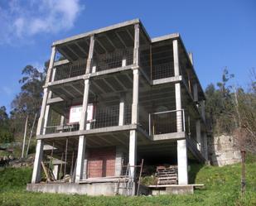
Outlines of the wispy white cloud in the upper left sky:
M 0 3 L 0 44 L 69 30 L 84 5 L 80 0 L 3 0 Z

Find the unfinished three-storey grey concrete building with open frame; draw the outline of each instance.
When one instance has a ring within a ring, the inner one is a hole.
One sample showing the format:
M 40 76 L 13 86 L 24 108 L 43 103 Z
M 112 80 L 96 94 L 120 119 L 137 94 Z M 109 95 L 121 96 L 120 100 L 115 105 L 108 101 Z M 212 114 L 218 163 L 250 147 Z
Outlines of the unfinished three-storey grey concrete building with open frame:
M 207 160 L 204 105 L 178 33 L 150 38 L 135 19 L 56 41 L 27 189 L 110 195 L 126 177 L 133 195 L 142 159 L 187 185 L 188 162 Z

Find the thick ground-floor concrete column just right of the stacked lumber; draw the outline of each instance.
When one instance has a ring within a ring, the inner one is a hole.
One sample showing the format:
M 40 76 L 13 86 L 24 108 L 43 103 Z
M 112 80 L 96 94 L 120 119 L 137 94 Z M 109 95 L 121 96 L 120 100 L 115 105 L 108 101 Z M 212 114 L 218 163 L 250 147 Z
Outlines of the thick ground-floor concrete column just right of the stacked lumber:
M 188 184 L 186 139 L 177 141 L 178 184 Z

